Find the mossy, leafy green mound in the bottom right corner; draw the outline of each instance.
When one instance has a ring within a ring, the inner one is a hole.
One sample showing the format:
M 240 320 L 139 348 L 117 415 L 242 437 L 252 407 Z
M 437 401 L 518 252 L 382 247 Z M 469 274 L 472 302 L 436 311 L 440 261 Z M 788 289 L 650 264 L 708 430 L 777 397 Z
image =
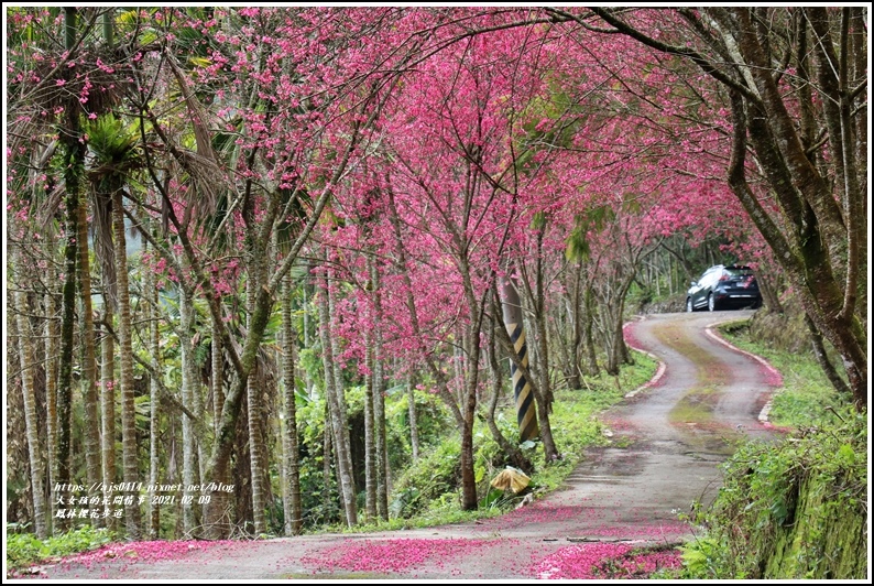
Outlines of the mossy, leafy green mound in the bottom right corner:
M 838 423 L 777 444 L 750 443 L 697 521 L 685 547 L 690 578 L 841 578 L 866 575 L 867 422 L 852 408 Z

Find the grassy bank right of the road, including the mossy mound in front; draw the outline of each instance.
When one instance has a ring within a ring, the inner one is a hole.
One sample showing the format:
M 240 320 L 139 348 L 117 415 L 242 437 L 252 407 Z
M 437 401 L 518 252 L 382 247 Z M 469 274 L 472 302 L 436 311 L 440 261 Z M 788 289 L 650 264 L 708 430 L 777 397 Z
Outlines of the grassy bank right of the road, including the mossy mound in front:
M 746 322 L 721 327 L 784 379 L 771 420 L 788 427 L 747 443 L 723 465 L 723 487 L 684 547 L 689 579 L 860 579 L 867 574 L 867 416 L 831 387 L 811 352 L 750 338 Z

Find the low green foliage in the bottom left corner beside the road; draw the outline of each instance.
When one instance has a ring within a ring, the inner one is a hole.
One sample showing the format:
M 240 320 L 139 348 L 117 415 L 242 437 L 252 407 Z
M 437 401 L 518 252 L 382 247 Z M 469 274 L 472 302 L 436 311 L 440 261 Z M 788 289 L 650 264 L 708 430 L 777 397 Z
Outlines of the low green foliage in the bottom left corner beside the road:
M 84 525 L 61 535 L 39 540 L 33 533 L 18 533 L 26 529 L 17 523 L 7 524 L 7 566 L 21 568 L 43 560 L 63 557 L 74 553 L 95 550 L 109 543 L 111 536 L 106 529 Z

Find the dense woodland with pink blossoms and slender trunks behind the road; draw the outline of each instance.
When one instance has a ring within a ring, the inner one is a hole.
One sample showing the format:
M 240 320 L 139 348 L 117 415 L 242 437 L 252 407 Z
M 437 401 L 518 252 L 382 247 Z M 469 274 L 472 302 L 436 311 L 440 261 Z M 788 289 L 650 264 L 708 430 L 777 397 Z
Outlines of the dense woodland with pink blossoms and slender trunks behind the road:
M 447 430 L 474 509 L 474 426 L 533 466 L 509 365 L 559 458 L 554 392 L 616 375 L 629 311 L 715 263 L 790 293 L 865 410 L 867 19 L 8 8 L 8 521 L 354 525 L 403 514 Z M 186 488 L 57 516 L 100 482 Z

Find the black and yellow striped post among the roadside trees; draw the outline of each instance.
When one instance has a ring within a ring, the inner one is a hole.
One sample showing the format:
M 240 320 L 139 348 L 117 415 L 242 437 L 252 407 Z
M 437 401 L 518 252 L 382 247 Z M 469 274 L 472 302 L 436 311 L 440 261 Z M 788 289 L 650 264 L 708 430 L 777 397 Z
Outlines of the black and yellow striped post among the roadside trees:
M 528 347 L 525 344 L 525 329 L 522 325 L 522 304 L 513 281 L 506 276 L 501 278 L 501 310 L 504 327 L 510 334 L 510 340 L 513 343 L 522 366 L 527 370 Z M 510 372 L 513 378 L 513 395 L 516 399 L 516 421 L 518 423 L 520 440 L 522 442 L 535 440 L 539 436 L 540 431 L 537 428 L 537 406 L 534 403 L 531 383 L 522 375 L 522 370 L 518 369 L 515 361 L 511 360 L 510 365 Z

